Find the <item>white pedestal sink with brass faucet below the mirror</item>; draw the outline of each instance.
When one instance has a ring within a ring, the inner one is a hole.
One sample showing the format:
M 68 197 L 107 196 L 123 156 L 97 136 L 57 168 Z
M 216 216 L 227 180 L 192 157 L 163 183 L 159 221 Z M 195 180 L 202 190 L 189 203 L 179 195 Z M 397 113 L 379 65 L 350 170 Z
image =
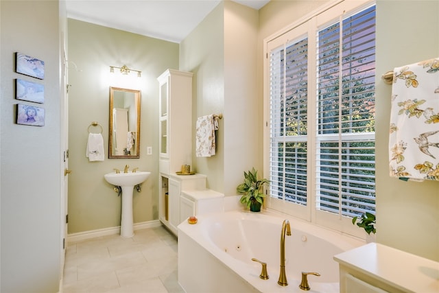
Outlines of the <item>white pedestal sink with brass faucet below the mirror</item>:
M 108 183 L 122 188 L 121 237 L 132 237 L 132 191 L 134 185 L 143 183 L 151 172 L 108 173 L 104 175 Z

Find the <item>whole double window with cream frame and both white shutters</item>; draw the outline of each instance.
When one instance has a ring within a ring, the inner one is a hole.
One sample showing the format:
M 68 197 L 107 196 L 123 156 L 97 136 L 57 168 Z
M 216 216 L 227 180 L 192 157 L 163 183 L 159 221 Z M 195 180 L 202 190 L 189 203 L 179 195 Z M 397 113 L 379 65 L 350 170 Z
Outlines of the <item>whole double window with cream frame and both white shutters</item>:
M 375 211 L 375 5 L 349 5 L 266 42 L 265 170 L 270 208 L 356 234 Z

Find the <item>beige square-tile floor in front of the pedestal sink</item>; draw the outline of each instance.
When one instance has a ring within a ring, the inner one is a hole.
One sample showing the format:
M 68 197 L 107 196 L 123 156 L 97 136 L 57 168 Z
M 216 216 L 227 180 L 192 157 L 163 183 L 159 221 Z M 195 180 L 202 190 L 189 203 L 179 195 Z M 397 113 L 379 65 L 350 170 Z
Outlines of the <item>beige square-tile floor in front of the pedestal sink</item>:
M 69 243 L 63 293 L 184 293 L 177 239 L 163 227 Z

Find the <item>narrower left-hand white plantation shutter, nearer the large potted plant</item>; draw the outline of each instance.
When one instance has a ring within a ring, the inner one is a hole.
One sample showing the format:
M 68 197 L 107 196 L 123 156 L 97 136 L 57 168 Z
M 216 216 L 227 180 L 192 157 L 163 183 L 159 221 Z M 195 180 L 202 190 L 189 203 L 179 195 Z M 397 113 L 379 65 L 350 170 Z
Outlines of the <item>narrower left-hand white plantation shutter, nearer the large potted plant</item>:
M 308 38 L 270 51 L 270 196 L 307 204 Z

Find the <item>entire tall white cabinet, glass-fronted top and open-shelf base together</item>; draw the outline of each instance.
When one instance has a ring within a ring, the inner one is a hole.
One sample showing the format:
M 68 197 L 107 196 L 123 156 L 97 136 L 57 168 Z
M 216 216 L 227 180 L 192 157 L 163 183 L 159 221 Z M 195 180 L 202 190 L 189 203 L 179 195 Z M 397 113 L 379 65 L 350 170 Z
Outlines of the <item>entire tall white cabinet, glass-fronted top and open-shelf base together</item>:
M 192 73 L 167 69 L 158 78 L 158 171 L 161 194 L 158 218 L 174 234 L 180 224 L 180 192 L 200 184 L 205 176 L 177 176 L 181 165 L 192 163 Z M 179 178 L 180 177 L 180 178 Z M 197 183 L 197 184 L 195 184 Z

